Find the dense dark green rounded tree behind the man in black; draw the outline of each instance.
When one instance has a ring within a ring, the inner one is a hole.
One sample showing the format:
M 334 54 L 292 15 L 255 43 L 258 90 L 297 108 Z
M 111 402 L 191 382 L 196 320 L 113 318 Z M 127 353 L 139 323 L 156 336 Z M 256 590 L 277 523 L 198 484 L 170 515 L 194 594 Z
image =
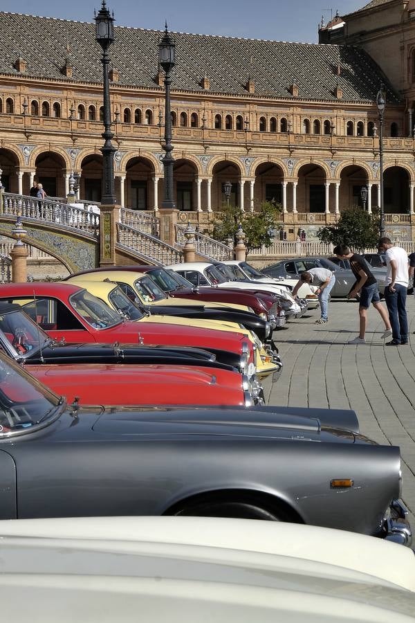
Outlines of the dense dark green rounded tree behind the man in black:
M 363 251 L 377 246 L 379 240 L 378 213 L 369 214 L 362 208 L 353 207 L 341 213 L 334 225 L 327 225 L 317 231 L 321 242 L 347 244 L 353 251 Z

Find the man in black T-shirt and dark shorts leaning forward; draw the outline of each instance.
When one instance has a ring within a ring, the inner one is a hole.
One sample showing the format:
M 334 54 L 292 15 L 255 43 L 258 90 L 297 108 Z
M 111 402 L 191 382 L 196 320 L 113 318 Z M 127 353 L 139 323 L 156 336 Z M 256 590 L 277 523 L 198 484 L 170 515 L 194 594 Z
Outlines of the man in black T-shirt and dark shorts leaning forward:
M 382 338 L 391 336 L 392 329 L 391 323 L 389 323 L 386 309 L 380 303 L 380 295 L 378 282 L 376 277 L 371 273 L 369 264 L 367 264 L 365 258 L 357 253 L 351 253 L 347 244 L 338 244 L 333 249 L 333 253 L 339 258 L 339 260 L 349 260 L 353 275 L 356 277 L 356 282 L 353 288 L 349 292 L 347 298 L 356 298 L 356 295 L 360 293 L 359 300 L 359 336 L 349 341 L 349 344 L 364 344 L 366 325 L 367 325 L 367 310 L 370 304 L 374 306 L 376 311 L 379 312 L 383 322 L 385 323 L 385 331 L 382 333 Z

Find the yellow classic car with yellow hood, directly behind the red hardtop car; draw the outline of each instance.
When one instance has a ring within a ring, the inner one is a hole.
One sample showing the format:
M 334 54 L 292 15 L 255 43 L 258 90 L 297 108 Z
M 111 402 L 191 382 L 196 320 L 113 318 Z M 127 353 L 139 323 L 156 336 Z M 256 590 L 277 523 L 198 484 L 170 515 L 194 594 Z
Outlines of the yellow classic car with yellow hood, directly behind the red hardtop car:
M 124 291 L 121 289 L 124 284 L 118 285 L 118 283 L 108 280 L 88 281 L 86 278 L 89 276 L 91 275 L 73 277 L 71 280 L 68 280 L 68 283 L 85 288 L 90 294 L 93 294 L 93 296 L 102 300 L 106 305 L 109 305 L 109 307 L 112 307 L 112 309 L 118 311 L 128 320 L 138 321 L 139 323 L 160 322 L 163 324 L 167 323 L 172 326 L 181 327 L 183 319 L 178 316 L 145 315 L 145 311 L 138 308 L 136 303 L 133 303 L 129 296 L 124 294 Z M 136 279 L 134 277 L 134 273 L 128 273 L 128 276 L 131 276 L 131 282 Z M 256 347 L 255 365 L 257 366 L 257 376 L 259 379 L 264 379 L 270 374 L 275 374 L 276 380 L 277 376 L 279 376 L 279 373 L 282 370 L 282 361 L 279 357 L 277 346 L 273 340 L 268 339 L 263 344 L 257 334 L 250 332 L 248 329 L 244 328 L 243 325 L 235 325 L 234 323 L 219 323 L 216 320 L 212 321 L 202 320 L 201 318 L 186 318 L 186 325 L 192 327 L 203 327 L 204 325 L 208 325 L 207 328 L 209 329 L 231 332 L 236 331 L 238 333 L 242 333 Z

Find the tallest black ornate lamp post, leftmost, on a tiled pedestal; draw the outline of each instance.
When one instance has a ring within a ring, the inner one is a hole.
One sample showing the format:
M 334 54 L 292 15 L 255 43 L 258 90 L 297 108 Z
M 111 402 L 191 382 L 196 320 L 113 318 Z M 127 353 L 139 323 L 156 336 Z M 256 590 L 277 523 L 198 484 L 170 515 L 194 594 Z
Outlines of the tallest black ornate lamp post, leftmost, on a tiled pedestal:
M 105 143 L 101 148 L 104 160 L 104 194 L 102 204 L 113 206 L 116 203 L 116 192 L 114 185 L 114 154 L 116 147 L 111 143 L 113 133 L 111 132 L 111 103 L 109 100 L 109 46 L 114 42 L 114 17 L 110 14 L 105 0 L 98 15 L 95 14 L 95 39 L 102 48 L 102 69 L 104 84 L 104 128 L 102 133 Z

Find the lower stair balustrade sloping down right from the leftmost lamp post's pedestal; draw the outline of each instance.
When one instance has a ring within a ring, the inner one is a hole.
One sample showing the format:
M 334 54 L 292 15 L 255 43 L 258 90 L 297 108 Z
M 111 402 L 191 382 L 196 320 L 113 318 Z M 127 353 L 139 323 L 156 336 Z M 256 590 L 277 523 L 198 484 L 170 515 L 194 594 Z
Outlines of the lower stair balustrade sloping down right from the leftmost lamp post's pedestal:
M 136 251 L 140 255 L 144 255 L 150 264 L 177 264 L 183 262 L 183 253 L 179 249 L 174 249 L 166 242 L 161 242 L 158 238 L 151 236 L 138 229 L 125 225 L 117 224 L 118 244 L 125 246 L 127 249 Z

